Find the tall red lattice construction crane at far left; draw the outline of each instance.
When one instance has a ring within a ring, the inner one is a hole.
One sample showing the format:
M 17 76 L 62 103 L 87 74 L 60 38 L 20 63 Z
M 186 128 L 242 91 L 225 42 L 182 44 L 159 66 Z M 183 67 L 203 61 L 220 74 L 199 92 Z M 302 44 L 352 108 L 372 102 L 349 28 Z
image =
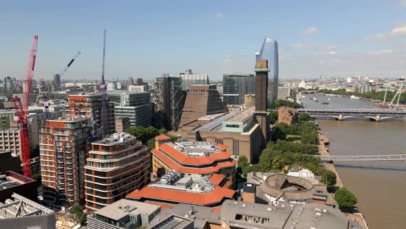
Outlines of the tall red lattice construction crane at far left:
M 21 157 L 23 159 L 23 172 L 25 177 L 31 177 L 31 155 L 30 155 L 30 135 L 28 134 L 28 104 L 30 103 L 30 94 L 32 89 L 32 77 L 34 76 L 34 67 L 36 59 L 36 46 L 38 44 L 38 36 L 34 36 L 34 42 L 31 46 L 30 57 L 28 58 L 27 75 L 23 75 L 21 80 L 24 92 L 24 98 L 21 103 L 19 97 L 12 98 L 16 115 L 19 118 L 20 139 L 21 139 Z

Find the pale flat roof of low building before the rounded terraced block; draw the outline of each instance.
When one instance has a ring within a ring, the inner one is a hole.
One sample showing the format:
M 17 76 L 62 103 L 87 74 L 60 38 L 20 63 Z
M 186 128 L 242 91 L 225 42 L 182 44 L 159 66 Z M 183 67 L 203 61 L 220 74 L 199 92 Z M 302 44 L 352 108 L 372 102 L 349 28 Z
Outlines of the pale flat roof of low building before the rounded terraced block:
M 156 204 L 120 199 L 104 208 L 100 208 L 100 210 L 97 210 L 94 213 L 118 221 L 127 215 L 150 215 L 158 209 L 160 209 L 160 206 L 157 206 Z

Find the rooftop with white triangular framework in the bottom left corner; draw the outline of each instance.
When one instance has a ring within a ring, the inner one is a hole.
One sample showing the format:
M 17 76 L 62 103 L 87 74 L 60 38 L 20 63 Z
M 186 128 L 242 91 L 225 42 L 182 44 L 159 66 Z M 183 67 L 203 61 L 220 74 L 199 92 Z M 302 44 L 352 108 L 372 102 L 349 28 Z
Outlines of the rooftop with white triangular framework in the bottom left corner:
M 0 202 L 0 224 L 1 219 L 55 214 L 53 210 L 45 208 L 39 203 L 35 203 L 17 193 L 14 193 L 12 198 L 6 199 L 4 203 Z

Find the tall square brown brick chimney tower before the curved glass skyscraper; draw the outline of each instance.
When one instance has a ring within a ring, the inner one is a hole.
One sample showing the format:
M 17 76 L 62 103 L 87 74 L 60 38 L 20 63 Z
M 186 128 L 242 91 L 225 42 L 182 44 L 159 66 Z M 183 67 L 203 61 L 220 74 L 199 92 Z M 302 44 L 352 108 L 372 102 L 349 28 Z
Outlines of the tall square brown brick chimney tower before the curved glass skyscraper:
M 255 65 L 255 117 L 261 128 L 261 147 L 266 146 L 269 139 L 268 119 L 268 61 L 259 59 Z

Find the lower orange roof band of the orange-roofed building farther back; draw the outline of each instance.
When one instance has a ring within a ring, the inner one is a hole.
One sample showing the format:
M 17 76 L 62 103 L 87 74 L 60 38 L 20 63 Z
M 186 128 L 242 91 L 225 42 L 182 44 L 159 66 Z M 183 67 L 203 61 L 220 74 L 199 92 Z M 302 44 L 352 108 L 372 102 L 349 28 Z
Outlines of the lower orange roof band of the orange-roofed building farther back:
M 165 144 L 166 145 L 166 144 Z M 206 167 L 206 168 L 189 168 L 189 167 L 184 167 L 180 166 L 178 163 L 167 157 L 167 155 L 164 155 L 160 150 L 153 149 L 151 150 L 152 155 L 155 157 L 158 157 L 160 161 L 163 163 L 167 164 L 167 166 L 171 167 L 173 170 L 177 172 L 188 172 L 188 173 L 195 173 L 195 174 L 207 174 L 211 172 L 218 172 L 220 168 L 228 168 L 228 167 L 233 167 L 237 163 L 237 161 L 225 161 L 225 162 L 220 162 L 217 163 L 216 166 L 211 166 L 211 167 Z

